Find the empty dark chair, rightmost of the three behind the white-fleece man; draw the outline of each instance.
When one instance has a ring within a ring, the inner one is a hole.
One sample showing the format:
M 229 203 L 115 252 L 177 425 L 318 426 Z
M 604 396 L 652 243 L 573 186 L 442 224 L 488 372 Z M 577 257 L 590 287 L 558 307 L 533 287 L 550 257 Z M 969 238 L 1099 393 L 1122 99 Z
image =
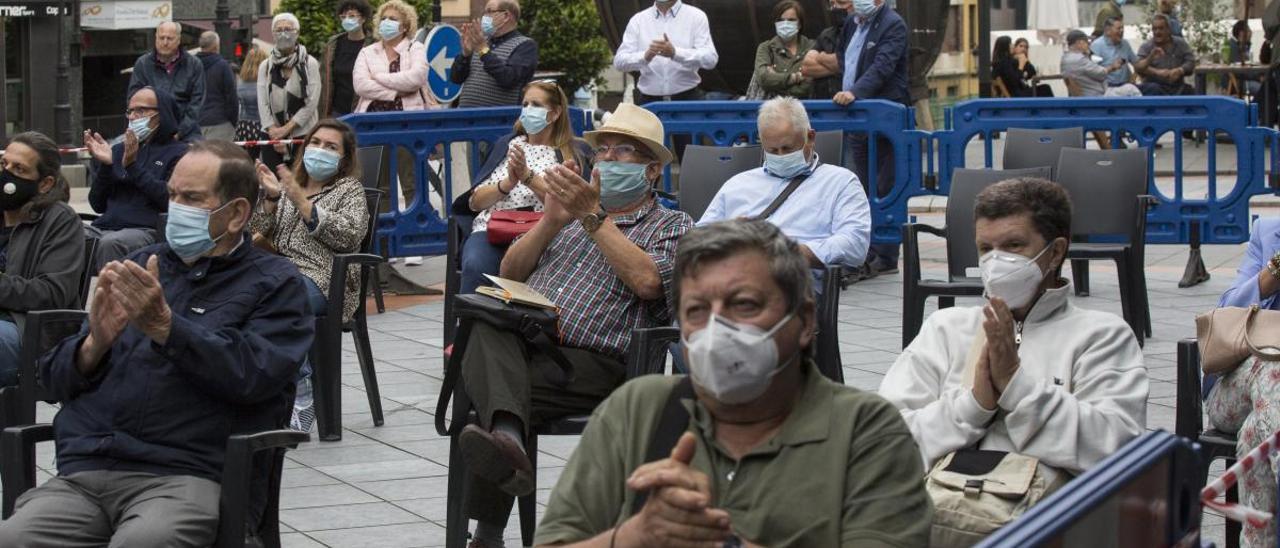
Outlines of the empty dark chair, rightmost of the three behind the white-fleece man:
M 1146 147 L 1119 150 L 1064 149 L 1057 182 L 1071 195 L 1071 238 L 1066 257 L 1078 292 L 1088 293 L 1089 260 L 1115 261 L 1124 319 L 1138 343 L 1151 335 L 1147 303 L 1147 195 Z M 1121 237 L 1123 242 L 1098 238 Z

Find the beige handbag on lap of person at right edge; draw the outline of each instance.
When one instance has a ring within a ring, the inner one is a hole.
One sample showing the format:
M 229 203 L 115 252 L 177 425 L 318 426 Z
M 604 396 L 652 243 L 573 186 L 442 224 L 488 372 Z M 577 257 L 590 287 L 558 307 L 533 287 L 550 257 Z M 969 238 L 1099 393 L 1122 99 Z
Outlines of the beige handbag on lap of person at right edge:
M 1196 316 L 1201 370 L 1229 373 L 1251 355 L 1280 361 L 1280 311 L 1226 306 Z

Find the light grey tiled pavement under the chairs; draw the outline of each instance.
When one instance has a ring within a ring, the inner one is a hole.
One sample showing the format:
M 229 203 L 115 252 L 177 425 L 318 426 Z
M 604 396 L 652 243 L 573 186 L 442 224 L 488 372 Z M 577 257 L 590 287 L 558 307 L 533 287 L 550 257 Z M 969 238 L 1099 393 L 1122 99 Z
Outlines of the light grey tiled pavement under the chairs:
M 924 222 L 941 222 L 927 215 Z M 925 274 L 945 273 L 940 239 L 923 241 Z M 1243 246 L 1207 246 L 1206 264 L 1213 278 L 1179 289 L 1187 248 L 1147 248 L 1155 337 L 1144 353 L 1151 375 L 1148 428 L 1174 426 L 1175 342 L 1193 334 L 1192 319 L 1213 306 L 1234 277 Z M 1092 266 L 1093 296 L 1080 306 L 1119 314 L 1115 269 Z M 840 341 L 845 378 L 851 385 L 876 389 L 899 353 L 901 277 L 858 283 L 841 296 Z M 960 303 L 965 305 L 964 302 Z M 931 307 L 933 303 L 931 302 Z M 344 342 L 342 442 L 303 444 L 288 453 L 282 490 L 280 522 L 287 547 L 434 547 L 444 543 L 448 440 L 435 434 L 431 412 L 440 387 L 442 312 L 439 302 L 370 316 L 370 335 L 378 361 L 379 385 L 387 414 L 384 426 L 371 425 L 364 383 L 349 339 Z M 54 410 L 41 406 L 40 419 Z M 538 499 L 543 504 L 576 446 L 576 438 L 539 440 Z M 41 447 L 47 478 L 52 449 Z M 539 507 L 541 508 L 541 506 Z M 1211 517 L 1206 533 L 1221 535 L 1221 520 Z M 508 543 L 518 544 L 518 521 L 512 519 Z

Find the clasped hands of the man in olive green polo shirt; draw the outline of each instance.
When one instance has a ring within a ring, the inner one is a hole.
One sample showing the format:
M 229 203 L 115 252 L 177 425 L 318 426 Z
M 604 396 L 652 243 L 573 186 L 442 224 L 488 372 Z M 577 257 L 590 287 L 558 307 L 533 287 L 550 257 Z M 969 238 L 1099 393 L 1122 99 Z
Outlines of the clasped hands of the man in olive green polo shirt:
M 696 449 L 698 439 L 686 431 L 669 458 L 640 466 L 627 478 L 627 489 L 649 492 L 649 498 L 618 525 L 614 545 L 718 548 L 733 534 L 728 512 L 710 506 L 710 478 L 689 466 Z

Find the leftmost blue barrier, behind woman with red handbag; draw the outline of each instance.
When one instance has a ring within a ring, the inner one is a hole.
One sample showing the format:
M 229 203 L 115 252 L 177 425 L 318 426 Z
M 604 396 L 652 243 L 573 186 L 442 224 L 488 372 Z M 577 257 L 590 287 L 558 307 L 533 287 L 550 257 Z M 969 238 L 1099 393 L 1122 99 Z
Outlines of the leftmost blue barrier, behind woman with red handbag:
M 390 211 L 381 214 L 376 227 L 378 252 L 389 257 L 412 255 L 444 255 L 448 243 L 448 209 L 453 204 L 453 150 L 452 145 L 465 143 L 468 175 L 484 164 L 494 141 L 512 132 L 520 118 L 515 106 L 494 109 L 415 110 L 406 113 L 366 113 L 343 117 L 356 131 L 360 146 L 385 146 L 393 151 L 407 149 L 413 155 L 413 202 L 401 207 L 398 172 L 399 154 L 389 154 L 383 168 L 390 181 Z M 588 114 L 570 109 L 570 124 L 575 134 L 586 127 Z M 431 206 L 428 196 L 436 192 L 428 175 L 429 160 L 438 160 L 442 182 L 439 196 L 443 210 Z M 472 181 L 474 177 L 468 177 Z

